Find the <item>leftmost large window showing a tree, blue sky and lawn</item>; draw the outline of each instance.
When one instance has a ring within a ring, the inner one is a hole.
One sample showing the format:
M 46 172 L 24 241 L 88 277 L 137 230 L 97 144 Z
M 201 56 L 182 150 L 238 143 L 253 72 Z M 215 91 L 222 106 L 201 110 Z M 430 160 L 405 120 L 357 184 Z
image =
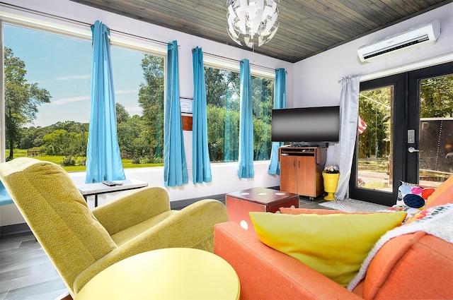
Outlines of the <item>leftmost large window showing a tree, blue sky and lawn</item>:
M 4 45 L 7 160 L 36 150 L 84 169 L 91 42 L 5 24 Z

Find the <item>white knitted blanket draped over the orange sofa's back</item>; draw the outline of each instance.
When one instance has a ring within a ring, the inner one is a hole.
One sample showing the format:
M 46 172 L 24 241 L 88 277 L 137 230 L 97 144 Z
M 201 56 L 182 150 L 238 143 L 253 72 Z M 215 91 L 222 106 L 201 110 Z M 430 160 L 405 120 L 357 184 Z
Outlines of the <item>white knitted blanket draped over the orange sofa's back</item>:
M 433 236 L 437 236 L 440 239 L 444 239 L 449 243 L 453 244 L 453 203 L 447 205 L 440 205 L 434 208 L 430 208 L 425 212 L 422 212 L 420 219 L 410 222 L 408 224 L 403 224 L 400 227 L 389 230 L 386 232 L 379 241 L 374 245 L 371 251 L 369 251 L 367 258 L 362 263 L 357 275 L 349 283 L 348 289 L 352 291 L 367 274 L 369 263 L 376 255 L 377 251 L 384 246 L 384 244 L 393 239 L 396 236 L 401 236 L 403 234 L 411 234 L 413 232 L 423 231 Z

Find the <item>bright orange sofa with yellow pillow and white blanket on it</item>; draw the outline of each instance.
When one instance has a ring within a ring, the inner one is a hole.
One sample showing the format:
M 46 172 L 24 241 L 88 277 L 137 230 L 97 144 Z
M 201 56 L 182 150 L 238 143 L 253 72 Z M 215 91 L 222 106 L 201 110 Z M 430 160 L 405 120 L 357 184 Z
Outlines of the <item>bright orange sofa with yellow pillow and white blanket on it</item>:
M 419 215 L 448 203 L 453 203 L 453 176 L 432 193 Z M 214 253 L 236 270 L 241 300 L 453 299 L 453 244 L 423 231 L 387 241 L 352 292 L 265 246 L 256 233 L 234 222 L 215 225 Z

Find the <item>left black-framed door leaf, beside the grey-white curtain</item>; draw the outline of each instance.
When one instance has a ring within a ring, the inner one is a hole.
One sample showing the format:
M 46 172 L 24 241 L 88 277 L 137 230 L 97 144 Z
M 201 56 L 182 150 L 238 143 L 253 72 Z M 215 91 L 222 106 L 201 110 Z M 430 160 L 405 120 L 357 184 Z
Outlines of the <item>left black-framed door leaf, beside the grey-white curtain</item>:
M 403 178 L 406 74 L 360 83 L 359 124 L 349 197 L 394 205 Z M 366 124 L 366 126 L 365 126 Z M 406 151 L 406 152 L 404 152 Z

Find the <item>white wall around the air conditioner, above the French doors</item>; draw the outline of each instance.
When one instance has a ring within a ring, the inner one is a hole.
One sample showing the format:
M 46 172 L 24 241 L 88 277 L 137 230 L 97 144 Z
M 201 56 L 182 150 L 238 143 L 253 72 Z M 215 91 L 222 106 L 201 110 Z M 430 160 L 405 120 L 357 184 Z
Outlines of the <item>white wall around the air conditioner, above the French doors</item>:
M 441 34 L 437 42 L 430 47 L 371 63 L 362 63 L 357 56 L 357 49 L 365 44 L 432 20 L 440 20 Z M 453 3 L 297 62 L 293 68 L 293 102 L 287 102 L 287 107 L 338 105 L 341 87 L 338 80 L 345 76 L 360 75 L 362 80 L 364 76 L 372 73 L 410 66 L 445 54 L 453 54 Z M 333 163 L 334 148 L 332 144 L 328 148 L 326 164 Z

